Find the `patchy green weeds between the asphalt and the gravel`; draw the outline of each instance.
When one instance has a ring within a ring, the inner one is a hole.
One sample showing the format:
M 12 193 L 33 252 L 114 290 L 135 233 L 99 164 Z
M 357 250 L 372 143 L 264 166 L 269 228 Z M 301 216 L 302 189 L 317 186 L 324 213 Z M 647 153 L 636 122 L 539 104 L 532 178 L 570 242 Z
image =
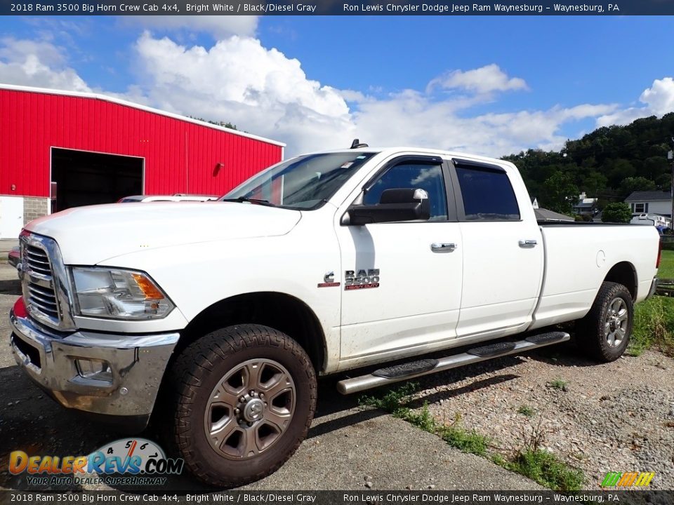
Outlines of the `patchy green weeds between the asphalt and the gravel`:
M 564 382 L 564 381 L 561 381 Z M 564 384 L 566 384 L 564 382 Z M 362 396 L 358 403 L 363 406 L 374 407 L 390 412 L 395 417 L 418 426 L 423 431 L 440 436 L 451 447 L 456 447 L 463 452 L 477 454 L 486 457 L 498 466 L 535 480 L 537 483 L 549 487 L 555 491 L 577 491 L 585 482 L 583 472 L 571 468 L 561 459 L 550 452 L 538 449 L 538 447 L 525 447 L 515 452 L 513 457 L 506 459 L 498 452 L 489 452 L 491 439 L 468 430 L 461 426 L 461 416 L 457 415 L 452 424 L 439 424 L 430 414 L 428 403 L 424 403 L 421 410 L 412 410 L 409 407 L 410 397 L 418 391 L 418 384 L 408 382 L 403 386 L 392 389 L 383 396 Z M 527 417 L 534 415 L 534 409 L 522 405 L 518 410 Z M 527 413 L 525 413 L 527 412 Z

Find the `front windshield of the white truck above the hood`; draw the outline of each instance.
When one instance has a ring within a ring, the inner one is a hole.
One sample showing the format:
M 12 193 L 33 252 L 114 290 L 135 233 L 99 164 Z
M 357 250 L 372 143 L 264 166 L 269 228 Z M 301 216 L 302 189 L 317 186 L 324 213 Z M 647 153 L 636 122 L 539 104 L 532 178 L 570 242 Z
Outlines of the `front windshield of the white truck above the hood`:
M 298 156 L 259 173 L 221 199 L 266 201 L 303 210 L 319 208 L 374 154 L 341 152 Z

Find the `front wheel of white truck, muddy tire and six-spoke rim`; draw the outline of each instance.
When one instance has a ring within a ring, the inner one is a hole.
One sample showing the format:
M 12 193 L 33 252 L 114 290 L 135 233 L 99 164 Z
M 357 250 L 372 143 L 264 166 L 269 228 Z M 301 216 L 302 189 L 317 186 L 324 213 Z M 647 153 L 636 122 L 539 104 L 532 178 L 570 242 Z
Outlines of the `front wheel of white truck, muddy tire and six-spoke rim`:
M 172 439 L 204 483 L 234 487 L 279 469 L 304 440 L 316 375 L 304 349 L 262 325 L 209 333 L 171 369 Z

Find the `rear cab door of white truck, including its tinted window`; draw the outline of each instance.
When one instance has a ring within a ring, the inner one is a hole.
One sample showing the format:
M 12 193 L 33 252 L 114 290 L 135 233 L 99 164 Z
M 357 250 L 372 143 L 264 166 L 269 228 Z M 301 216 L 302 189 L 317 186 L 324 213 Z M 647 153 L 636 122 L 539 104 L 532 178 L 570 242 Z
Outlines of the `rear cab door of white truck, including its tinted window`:
M 458 337 L 509 335 L 526 328 L 543 282 L 543 239 L 515 169 L 454 159 L 463 238 Z

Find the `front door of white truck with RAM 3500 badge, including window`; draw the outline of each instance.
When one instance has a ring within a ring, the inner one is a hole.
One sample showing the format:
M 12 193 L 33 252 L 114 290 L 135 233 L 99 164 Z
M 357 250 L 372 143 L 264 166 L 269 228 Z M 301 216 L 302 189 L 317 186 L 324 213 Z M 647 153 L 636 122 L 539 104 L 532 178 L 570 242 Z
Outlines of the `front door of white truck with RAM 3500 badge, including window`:
M 428 221 L 336 222 L 342 363 L 417 354 L 456 337 L 463 241 L 448 163 L 439 157 L 394 159 L 366 182 L 355 203 L 375 205 L 385 189 L 402 188 L 428 193 Z

